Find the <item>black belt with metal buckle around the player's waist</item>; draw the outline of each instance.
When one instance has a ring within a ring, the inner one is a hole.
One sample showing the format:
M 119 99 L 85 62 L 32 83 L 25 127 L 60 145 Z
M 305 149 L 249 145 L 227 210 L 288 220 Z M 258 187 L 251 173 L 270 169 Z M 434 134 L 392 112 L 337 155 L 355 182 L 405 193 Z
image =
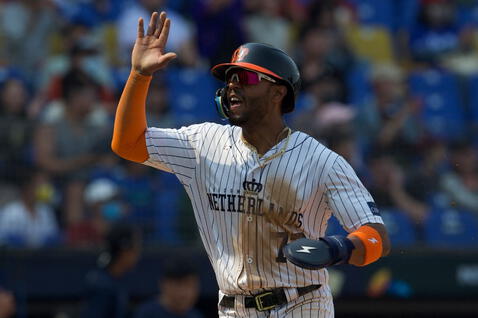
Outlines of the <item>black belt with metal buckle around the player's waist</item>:
M 321 285 L 309 285 L 297 287 L 297 294 L 299 297 L 303 296 L 313 290 L 319 289 L 320 286 Z M 219 305 L 234 308 L 235 300 L 235 296 L 223 296 Z M 285 303 L 287 303 L 287 296 L 283 288 L 276 288 L 254 296 L 244 297 L 244 306 L 246 308 L 256 308 L 259 311 L 270 310 Z

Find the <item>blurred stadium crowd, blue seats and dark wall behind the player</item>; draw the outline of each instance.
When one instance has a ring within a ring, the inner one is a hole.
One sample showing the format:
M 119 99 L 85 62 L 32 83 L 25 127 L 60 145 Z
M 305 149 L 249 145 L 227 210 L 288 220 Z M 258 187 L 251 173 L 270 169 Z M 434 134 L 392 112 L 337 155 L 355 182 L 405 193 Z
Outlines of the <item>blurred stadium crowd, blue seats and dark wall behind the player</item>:
M 478 1 L 0 0 L 1 318 L 97 317 L 98 286 L 123 308 L 104 317 L 167 297 L 217 317 L 182 186 L 110 150 L 138 17 L 160 10 L 178 58 L 151 83 L 150 126 L 222 122 L 209 69 L 241 43 L 297 61 L 288 125 L 352 164 L 393 244 L 330 270 L 337 317 L 478 316 Z

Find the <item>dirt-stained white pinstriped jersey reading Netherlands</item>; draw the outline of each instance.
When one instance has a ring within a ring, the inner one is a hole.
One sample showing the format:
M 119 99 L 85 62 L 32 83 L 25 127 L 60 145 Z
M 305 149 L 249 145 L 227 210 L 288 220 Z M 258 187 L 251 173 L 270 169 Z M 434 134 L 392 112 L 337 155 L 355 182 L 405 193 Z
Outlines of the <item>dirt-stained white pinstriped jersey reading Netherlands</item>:
M 222 293 L 327 285 L 326 269 L 286 262 L 281 246 L 324 236 L 332 213 L 348 231 L 383 223 L 350 165 L 309 135 L 293 132 L 283 155 L 268 161 L 285 142 L 259 158 L 236 126 L 146 131 L 144 164 L 174 173 L 184 185 Z M 328 288 L 320 291 L 330 296 Z

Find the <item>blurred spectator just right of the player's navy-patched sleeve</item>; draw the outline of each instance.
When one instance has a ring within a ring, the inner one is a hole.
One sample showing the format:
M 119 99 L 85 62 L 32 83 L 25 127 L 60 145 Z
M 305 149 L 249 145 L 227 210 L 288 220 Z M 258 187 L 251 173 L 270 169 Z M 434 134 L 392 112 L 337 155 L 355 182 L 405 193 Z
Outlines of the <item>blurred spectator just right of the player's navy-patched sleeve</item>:
M 376 149 L 367 160 L 369 175 L 367 188 L 380 208 L 397 208 L 407 214 L 421 229 L 428 216 L 428 206 L 412 197 L 405 188 L 404 171 L 395 158 L 384 150 Z

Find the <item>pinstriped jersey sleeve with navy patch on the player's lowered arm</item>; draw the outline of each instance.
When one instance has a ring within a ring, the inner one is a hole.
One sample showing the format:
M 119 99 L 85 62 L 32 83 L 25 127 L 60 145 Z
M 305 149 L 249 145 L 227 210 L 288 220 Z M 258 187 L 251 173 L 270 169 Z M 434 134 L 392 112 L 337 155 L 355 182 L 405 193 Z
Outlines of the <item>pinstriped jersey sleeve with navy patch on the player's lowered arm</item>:
M 365 223 L 383 224 L 372 196 L 343 157 L 332 164 L 325 188 L 329 207 L 347 232 Z

